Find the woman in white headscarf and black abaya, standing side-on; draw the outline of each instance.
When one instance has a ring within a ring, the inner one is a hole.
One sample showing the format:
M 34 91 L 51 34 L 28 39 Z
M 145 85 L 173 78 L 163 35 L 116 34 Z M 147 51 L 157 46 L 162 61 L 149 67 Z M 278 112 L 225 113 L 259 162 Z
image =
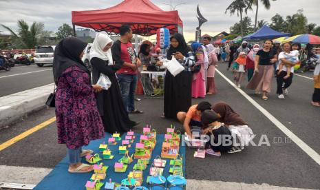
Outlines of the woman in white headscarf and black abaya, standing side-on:
M 100 74 L 105 74 L 111 81 L 111 87 L 96 93 L 96 100 L 105 131 L 110 134 L 124 133 L 136 125 L 129 116 L 122 101 L 116 72 L 120 65 L 114 65 L 111 46 L 114 43 L 107 34 L 96 33 L 96 39 L 90 50 L 92 65 L 92 83 L 96 84 Z

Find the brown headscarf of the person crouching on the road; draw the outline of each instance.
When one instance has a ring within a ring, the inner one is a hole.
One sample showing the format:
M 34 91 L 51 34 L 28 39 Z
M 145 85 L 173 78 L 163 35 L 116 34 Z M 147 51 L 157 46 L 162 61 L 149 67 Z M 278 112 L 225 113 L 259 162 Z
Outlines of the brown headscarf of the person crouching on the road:
M 244 120 L 242 120 L 239 114 L 233 111 L 230 105 L 224 102 L 216 103 L 211 107 L 211 109 L 213 109 L 215 113 L 220 114 L 220 120 L 226 125 L 248 125 Z

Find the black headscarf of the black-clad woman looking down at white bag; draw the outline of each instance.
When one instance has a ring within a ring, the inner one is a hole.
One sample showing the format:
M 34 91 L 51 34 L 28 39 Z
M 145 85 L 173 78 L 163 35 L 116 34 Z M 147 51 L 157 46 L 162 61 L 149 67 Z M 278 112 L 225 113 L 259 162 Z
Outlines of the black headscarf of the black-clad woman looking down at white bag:
M 167 52 L 167 59 L 171 59 L 172 54 L 175 52 L 180 52 L 182 53 L 183 56 L 188 56 L 188 53 L 191 52 L 190 48 L 188 45 L 186 45 L 186 41 L 184 40 L 184 36 L 180 33 L 175 33 L 173 36 L 170 37 L 170 41 L 172 39 L 176 39 L 179 43 L 178 47 L 173 47 L 170 45 L 169 50 Z

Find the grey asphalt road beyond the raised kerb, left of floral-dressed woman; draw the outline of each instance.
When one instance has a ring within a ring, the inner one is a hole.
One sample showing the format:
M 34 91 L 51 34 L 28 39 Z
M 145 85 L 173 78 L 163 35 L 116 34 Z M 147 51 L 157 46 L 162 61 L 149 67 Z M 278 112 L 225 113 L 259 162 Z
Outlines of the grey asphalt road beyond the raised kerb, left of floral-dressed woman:
M 0 97 L 53 83 L 52 65 L 12 67 L 0 71 Z

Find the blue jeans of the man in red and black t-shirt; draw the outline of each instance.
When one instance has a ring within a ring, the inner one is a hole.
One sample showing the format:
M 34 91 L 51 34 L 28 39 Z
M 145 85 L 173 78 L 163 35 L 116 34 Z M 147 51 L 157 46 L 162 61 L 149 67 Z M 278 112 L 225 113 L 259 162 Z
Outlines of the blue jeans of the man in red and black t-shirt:
M 117 74 L 117 77 L 125 108 L 127 112 L 133 112 L 135 110 L 134 96 L 136 94 L 138 77 L 136 74 Z

